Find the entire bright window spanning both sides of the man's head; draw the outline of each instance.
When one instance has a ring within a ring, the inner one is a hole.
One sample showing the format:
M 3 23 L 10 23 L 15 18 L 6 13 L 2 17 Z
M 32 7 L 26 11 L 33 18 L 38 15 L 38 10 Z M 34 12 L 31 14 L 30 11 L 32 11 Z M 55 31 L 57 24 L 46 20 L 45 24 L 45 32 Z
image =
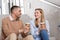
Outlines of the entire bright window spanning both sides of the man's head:
M 9 10 L 13 5 L 20 6 L 22 14 L 24 14 L 23 0 L 2 0 L 2 15 L 9 14 Z

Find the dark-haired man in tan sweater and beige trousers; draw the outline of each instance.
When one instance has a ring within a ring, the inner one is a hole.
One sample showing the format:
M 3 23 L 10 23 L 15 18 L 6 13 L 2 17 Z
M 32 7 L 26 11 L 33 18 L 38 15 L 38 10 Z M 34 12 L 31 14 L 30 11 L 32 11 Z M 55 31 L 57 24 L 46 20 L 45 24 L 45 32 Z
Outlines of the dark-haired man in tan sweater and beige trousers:
M 17 40 L 18 35 L 23 34 L 24 32 L 23 23 L 19 19 L 21 17 L 21 8 L 19 6 L 13 6 L 10 11 L 10 15 L 2 20 L 2 29 L 5 37 L 4 40 Z M 25 38 L 33 40 L 31 35 Z M 23 38 L 23 40 L 25 38 Z

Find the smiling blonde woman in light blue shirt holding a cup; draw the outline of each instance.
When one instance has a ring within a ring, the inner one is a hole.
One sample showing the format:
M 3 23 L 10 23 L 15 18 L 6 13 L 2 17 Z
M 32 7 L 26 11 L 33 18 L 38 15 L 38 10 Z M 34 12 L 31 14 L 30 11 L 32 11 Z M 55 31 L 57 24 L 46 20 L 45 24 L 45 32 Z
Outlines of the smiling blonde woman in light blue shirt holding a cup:
M 35 19 L 30 22 L 31 34 L 34 40 L 49 40 L 43 10 L 41 8 L 35 9 Z

